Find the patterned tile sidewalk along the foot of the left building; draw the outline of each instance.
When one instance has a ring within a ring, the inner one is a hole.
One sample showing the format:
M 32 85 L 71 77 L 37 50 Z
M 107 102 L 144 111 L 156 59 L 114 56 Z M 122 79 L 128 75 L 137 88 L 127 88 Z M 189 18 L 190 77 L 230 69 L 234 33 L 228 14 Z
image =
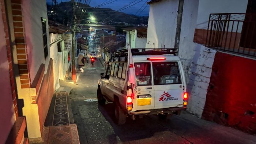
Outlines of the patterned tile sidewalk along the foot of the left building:
M 42 144 L 79 144 L 78 129 L 74 124 L 69 93 L 77 87 L 60 80 L 54 93 L 43 128 Z

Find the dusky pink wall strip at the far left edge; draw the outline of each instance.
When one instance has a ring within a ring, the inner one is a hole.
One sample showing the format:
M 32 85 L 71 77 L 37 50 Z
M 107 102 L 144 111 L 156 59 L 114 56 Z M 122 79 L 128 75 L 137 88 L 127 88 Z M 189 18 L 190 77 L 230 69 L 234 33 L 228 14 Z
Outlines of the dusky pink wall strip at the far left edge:
M 0 118 L 0 143 L 4 144 L 12 125 L 15 122 L 14 107 L 12 102 L 10 75 L 9 75 L 9 64 L 7 58 L 7 49 L 4 33 L 4 23 L 2 18 L 0 1 L 0 91 L 1 91 L 1 118 Z

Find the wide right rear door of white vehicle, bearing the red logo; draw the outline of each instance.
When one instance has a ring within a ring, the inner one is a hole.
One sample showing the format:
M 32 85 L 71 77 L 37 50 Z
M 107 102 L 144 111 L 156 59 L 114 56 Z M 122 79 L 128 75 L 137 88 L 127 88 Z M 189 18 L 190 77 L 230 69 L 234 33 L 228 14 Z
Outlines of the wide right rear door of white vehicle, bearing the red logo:
M 180 106 L 183 103 L 181 69 L 177 61 L 152 62 L 154 109 Z

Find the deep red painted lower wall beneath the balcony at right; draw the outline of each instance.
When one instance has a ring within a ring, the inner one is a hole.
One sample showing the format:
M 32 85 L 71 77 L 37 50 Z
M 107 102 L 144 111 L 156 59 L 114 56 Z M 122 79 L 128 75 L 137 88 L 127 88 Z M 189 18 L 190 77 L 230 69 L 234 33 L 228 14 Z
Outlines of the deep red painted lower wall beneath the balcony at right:
M 217 52 L 202 118 L 256 133 L 256 60 Z

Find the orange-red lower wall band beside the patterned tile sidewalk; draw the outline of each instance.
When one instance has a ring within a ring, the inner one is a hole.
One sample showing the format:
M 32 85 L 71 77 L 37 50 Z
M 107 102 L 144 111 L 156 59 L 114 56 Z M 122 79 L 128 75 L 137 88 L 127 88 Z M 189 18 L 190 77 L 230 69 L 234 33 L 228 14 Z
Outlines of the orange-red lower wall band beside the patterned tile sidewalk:
M 45 118 L 48 113 L 50 103 L 52 101 L 53 93 L 54 93 L 53 61 L 52 59 L 50 59 L 47 73 L 42 80 L 41 88 L 39 90 L 39 94 L 37 98 L 41 134 L 42 134 L 42 128 L 45 122 Z

